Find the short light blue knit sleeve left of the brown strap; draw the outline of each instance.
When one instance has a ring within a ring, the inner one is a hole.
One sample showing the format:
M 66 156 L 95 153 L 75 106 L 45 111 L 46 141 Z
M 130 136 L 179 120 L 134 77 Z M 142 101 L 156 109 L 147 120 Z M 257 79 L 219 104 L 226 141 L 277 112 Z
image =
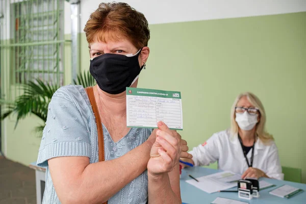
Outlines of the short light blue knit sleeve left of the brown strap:
M 46 167 L 47 160 L 55 157 L 90 157 L 89 125 L 77 101 L 66 87 L 53 95 L 38 152 L 38 166 Z

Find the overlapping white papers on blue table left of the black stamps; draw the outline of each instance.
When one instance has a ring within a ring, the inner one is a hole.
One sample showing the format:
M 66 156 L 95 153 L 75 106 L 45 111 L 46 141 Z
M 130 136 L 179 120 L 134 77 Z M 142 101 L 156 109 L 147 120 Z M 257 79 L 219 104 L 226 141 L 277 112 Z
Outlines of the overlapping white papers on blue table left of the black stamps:
M 207 193 L 214 193 L 225 189 L 237 187 L 236 182 L 227 182 L 230 181 L 232 177 L 234 177 L 234 179 L 236 180 L 237 174 L 231 171 L 223 171 L 220 173 L 197 177 L 196 179 L 199 182 L 196 182 L 193 179 L 187 180 L 186 182 Z

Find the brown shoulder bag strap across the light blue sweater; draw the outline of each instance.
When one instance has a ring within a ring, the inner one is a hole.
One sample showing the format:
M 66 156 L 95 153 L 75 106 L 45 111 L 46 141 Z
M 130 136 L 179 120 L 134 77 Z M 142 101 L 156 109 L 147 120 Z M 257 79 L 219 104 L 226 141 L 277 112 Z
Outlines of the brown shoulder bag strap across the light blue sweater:
M 92 87 L 85 88 L 85 91 L 88 95 L 94 116 L 96 118 L 96 124 L 97 124 L 97 131 L 98 131 L 98 148 L 99 148 L 99 162 L 104 161 L 104 136 L 103 136 L 103 129 L 102 129 L 102 123 L 98 111 L 97 104 L 95 103 L 94 94 Z M 107 204 L 107 201 L 103 204 Z

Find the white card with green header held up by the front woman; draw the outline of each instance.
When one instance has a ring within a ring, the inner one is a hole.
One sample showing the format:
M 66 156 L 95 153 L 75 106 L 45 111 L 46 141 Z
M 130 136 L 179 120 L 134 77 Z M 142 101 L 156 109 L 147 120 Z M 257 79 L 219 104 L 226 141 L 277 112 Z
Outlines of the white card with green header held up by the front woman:
M 183 130 L 181 92 L 127 87 L 126 126 L 156 128 L 159 121 Z

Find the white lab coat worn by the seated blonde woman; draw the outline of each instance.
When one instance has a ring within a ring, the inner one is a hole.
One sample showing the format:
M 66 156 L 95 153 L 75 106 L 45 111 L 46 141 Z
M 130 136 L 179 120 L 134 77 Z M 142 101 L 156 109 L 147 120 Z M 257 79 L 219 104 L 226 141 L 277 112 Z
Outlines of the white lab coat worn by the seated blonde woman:
M 269 177 L 284 180 L 282 166 L 279 163 L 277 147 L 272 141 L 265 145 L 258 138 L 254 145 L 253 166 L 265 172 Z M 242 174 L 248 169 L 238 136 L 231 136 L 230 130 L 215 133 L 205 143 L 189 152 L 195 166 L 218 162 L 218 169 L 230 170 Z M 247 154 L 250 163 L 252 150 Z

